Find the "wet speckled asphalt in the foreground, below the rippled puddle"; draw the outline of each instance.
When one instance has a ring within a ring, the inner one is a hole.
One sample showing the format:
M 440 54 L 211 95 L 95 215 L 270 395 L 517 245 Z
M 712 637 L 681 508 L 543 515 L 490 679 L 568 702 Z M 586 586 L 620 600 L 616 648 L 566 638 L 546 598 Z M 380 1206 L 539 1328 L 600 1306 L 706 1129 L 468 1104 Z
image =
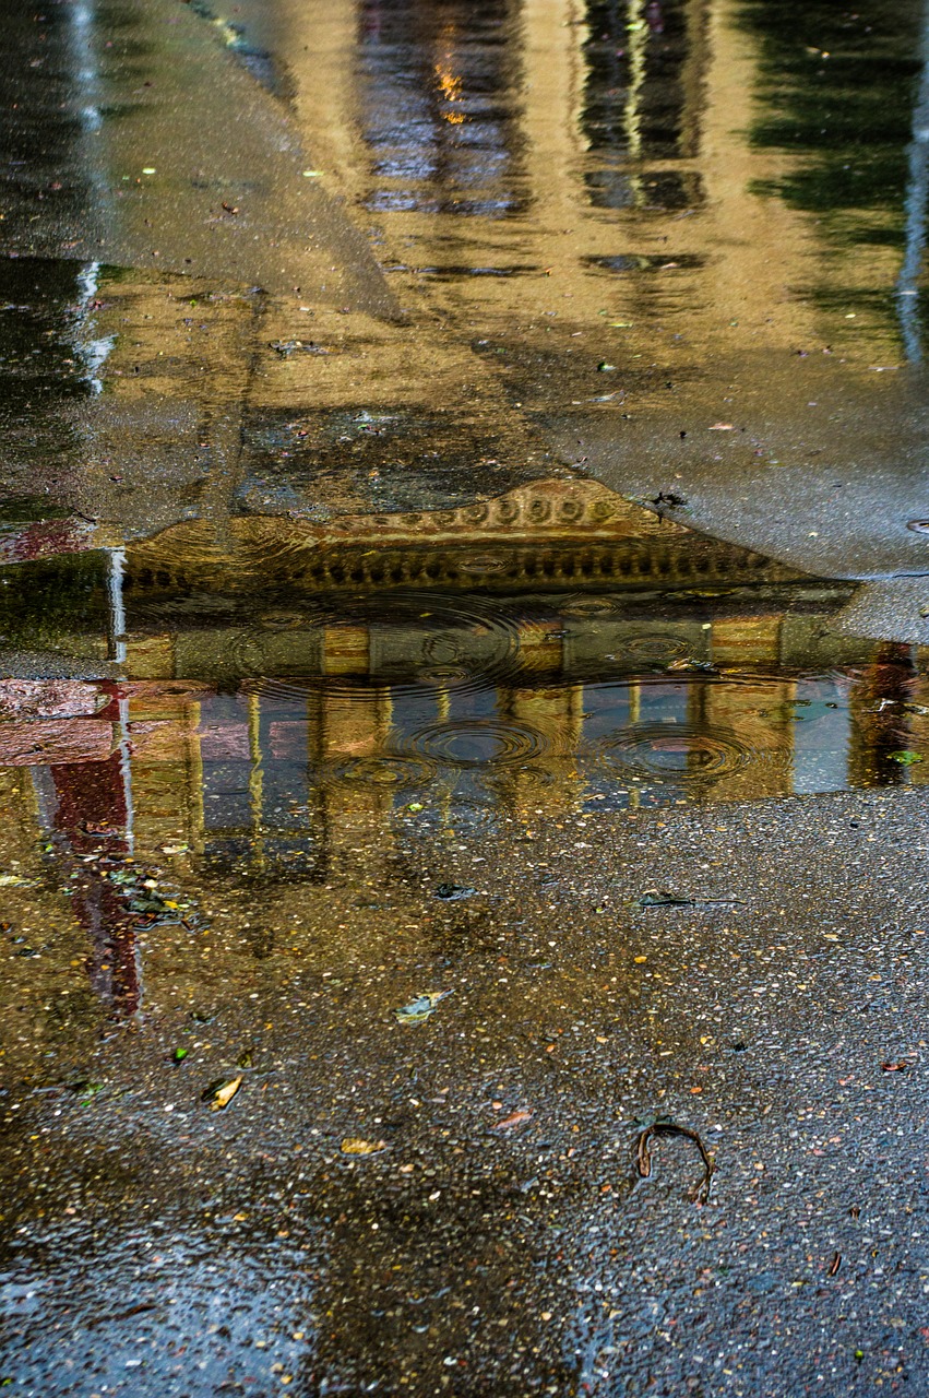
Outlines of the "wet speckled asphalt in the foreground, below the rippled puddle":
M 14 1392 L 923 1390 L 925 793 L 355 858 L 162 930 L 130 1025 L 7 981 Z

